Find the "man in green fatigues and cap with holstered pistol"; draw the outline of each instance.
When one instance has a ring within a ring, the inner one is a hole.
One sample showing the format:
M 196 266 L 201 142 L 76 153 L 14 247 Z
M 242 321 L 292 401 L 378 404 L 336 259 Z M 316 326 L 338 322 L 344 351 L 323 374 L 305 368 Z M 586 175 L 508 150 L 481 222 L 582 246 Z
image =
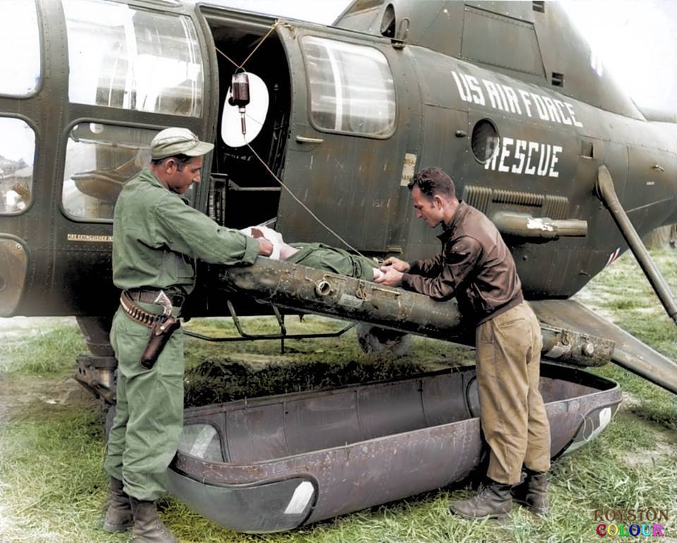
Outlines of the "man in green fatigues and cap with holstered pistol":
M 118 360 L 117 410 L 104 469 L 111 476 L 111 504 L 104 529 L 127 530 L 133 542 L 175 542 L 157 516 L 166 468 L 183 426 L 183 332 L 176 330 L 147 369 L 140 364 L 150 336 L 134 315 L 160 314 L 161 291 L 181 311 L 195 283 L 195 259 L 252 264 L 270 255 L 268 240 L 223 228 L 181 195 L 200 182 L 203 157 L 214 146 L 190 130 L 167 128 L 151 142 L 152 161 L 118 197 L 113 226 L 113 281 L 128 310 L 118 308 L 111 344 Z M 133 306 L 130 312 L 129 306 Z M 133 315 L 132 315 L 133 313 Z

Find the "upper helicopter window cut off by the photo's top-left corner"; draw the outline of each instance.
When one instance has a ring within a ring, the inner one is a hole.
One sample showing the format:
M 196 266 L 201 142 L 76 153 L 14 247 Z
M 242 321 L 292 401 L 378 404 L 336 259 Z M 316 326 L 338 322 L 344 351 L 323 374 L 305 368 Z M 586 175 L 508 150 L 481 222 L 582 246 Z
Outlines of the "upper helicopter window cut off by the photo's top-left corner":
M 40 83 L 40 33 L 35 1 L 2 0 L 0 94 L 26 96 Z

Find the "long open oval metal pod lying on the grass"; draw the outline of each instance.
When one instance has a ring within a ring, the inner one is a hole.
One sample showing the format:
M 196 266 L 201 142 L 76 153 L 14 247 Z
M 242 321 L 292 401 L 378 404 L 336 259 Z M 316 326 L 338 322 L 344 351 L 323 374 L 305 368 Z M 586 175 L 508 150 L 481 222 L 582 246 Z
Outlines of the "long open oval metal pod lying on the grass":
M 542 363 L 553 458 L 606 427 L 618 384 Z M 462 480 L 486 453 L 475 367 L 185 412 L 171 492 L 240 532 L 277 532 Z

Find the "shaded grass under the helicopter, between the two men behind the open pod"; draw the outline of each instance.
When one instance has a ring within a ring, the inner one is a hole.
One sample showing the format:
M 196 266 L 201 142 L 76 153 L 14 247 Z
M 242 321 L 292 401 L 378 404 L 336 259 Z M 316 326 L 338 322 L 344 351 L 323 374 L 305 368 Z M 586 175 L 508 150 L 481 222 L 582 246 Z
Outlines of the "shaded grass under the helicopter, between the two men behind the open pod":
M 342 322 L 322 317 L 305 318 L 305 330 L 319 334 L 338 331 Z M 276 331 L 274 319 L 250 319 L 251 333 Z M 195 325 L 193 325 L 195 327 Z M 230 319 L 200 322 L 201 334 L 230 336 Z M 298 327 L 298 326 L 297 326 Z M 288 327 L 288 333 L 301 329 Z M 188 339 L 185 398 L 187 405 L 207 405 L 238 398 L 267 396 L 308 389 L 405 377 L 445 367 L 444 360 L 472 364 L 473 351 L 441 341 L 413 338 L 414 357 L 365 355 L 354 331 L 338 338 L 289 340 L 281 355 L 279 341 L 231 344 Z

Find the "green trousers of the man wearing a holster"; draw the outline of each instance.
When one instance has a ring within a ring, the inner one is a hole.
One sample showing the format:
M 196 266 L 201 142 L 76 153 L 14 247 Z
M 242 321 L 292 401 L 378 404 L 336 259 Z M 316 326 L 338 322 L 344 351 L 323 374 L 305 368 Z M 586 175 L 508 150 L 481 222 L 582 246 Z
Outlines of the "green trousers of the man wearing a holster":
M 146 310 L 157 306 L 140 303 Z M 150 329 L 118 308 L 111 344 L 118 360 L 117 408 L 104 470 L 139 500 L 164 494 L 167 466 L 183 428 L 183 331 L 176 330 L 151 370 L 139 360 Z

